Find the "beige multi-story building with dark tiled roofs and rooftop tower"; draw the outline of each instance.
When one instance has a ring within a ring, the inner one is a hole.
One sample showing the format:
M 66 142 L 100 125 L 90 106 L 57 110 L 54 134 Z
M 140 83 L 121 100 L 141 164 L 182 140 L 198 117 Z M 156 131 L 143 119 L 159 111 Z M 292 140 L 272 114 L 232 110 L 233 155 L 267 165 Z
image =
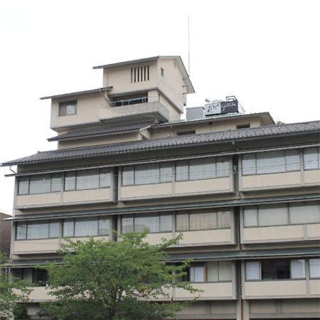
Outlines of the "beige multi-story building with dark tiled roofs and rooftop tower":
M 17 166 L 12 272 L 42 284 L 29 314 L 49 299 L 34 266 L 59 261 L 61 237 L 149 228 L 152 244 L 182 233 L 171 261 L 193 259 L 202 291 L 179 319 L 319 319 L 320 122 L 276 125 L 234 98 L 181 119 L 194 89 L 177 56 L 95 69 L 103 87 L 43 98 L 58 149 L 4 164 Z

